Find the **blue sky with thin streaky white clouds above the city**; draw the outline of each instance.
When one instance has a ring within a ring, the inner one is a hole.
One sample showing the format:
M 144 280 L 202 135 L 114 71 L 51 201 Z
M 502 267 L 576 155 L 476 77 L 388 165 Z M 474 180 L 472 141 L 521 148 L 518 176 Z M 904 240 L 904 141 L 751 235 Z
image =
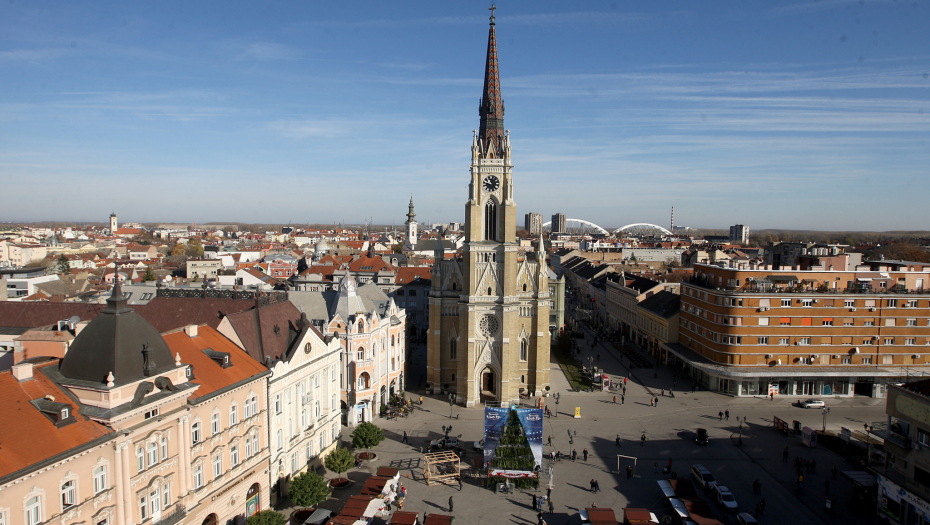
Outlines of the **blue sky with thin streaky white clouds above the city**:
M 497 2 L 518 214 L 930 229 L 930 2 Z M 0 4 L 0 220 L 462 220 L 484 2 Z

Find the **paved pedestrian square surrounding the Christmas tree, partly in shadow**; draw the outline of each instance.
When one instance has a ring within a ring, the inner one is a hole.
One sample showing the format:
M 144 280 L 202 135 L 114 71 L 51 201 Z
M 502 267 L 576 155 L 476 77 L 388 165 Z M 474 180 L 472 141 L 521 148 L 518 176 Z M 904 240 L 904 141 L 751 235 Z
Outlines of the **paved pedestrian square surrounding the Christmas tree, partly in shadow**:
M 620 364 L 614 350 L 606 344 L 591 349 L 590 344 L 583 357 L 600 354 L 595 363 L 615 380 L 628 371 Z M 545 420 L 544 443 L 552 436 L 552 446 L 544 451 L 561 451 L 571 455 L 577 450 L 578 459 L 571 461 L 544 460 L 543 471 L 553 469 L 552 500 L 554 513 L 546 515 L 550 525 L 580 523 L 578 511 L 596 503 L 598 507 L 610 507 L 622 519 L 624 507 L 648 508 L 660 519 L 669 513 L 667 500 L 663 497 L 656 481 L 664 478 L 662 468 L 672 460 L 672 470 L 679 476 L 688 476 L 691 465 L 702 464 L 714 474 L 718 483 L 726 485 L 739 503 L 740 512 L 754 512 L 762 498 L 766 501 L 761 523 L 871 523 L 872 518 L 861 518 L 849 509 L 852 485 L 841 476 L 831 478 L 831 492 L 837 496 L 833 514 L 824 511 L 825 490 L 823 482 L 830 478 L 830 469 L 851 470 L 852 466 L 842 458 L 825 449 L 804 447 L 800 439 L 788 437 L 774 430 L 773 416 L 786 421 L 799 420 L 803 425 L 820 428 L 823 416 L 820 410 L 806 410 L 792 406 L 795 397 L 734 398 L 712 392 L 678 392 L 674 399 L 662 397 L 661 389 L 669 388 L 672 371 L 667 367 L 658 369 L 636 369 L 627 384 L 626 403 L 613 403 L 613 392 L 573 392 L 565 377 L 553 363 L 553 390 L 560 393 L 557 415 Z M 655 377 L 653 375 L 655 374 Z M 681 377 L 678 384 L 681 385 Z M 690 383 L 689 383 L 690 385 Z M 414 394 L 411 394 L 414 395 Z M 418 396 L 419 394 L 415 394 Z M 650 406 L 650 400 L 658 397 L 658 406 Z M 415 397 L 414 397 L 415 398 Z M 553 397 L 546 399 L 555 411 Z M 863 422 L 884 419 L 884 400 L 881 399 L 827 399 L 831 408 L 827 416 L 827 427 L 841 426 L 859 428 Z M 581 418 L 575 419 L 575 407 L 580 407 Z M 720 420 L 718 413 L 729 410 L 729 420 Z M 450 411 L 452 419 L 450 419 Z M 742 430 L 743 445 L 737 446 L 740 433 L 737 418 L 746 418 Z M 550 480 L 544 476 L 539 491 L 517 490 L 515 494 L 495 494 L 480 485 L 479 480 L 466 476 L 462 488 L 456 483 L 449 486 L 427 486 L 423 481 L 423 461 L 419 448 L 425 448 L 430 440 L 443 435 L 443 427 L 452 425 L 450 436 L 459 438 L 466 447 L 463 466 L 470 465 L 476 452 L 472 442 L 482 438 L 483 409 L 466 409 L 455 406 L 450 409 L 444 397 L 424 396 L 422 407 L 417 406 L 413 415 L 399 420 L 378 419 L 376 423 L 384 429 L 387 439 L 375 451 L 378 459 L 361 469 L 349 472 L 355 480 L 353 487 L 334 494 L 336 499 L 324 503 L 323 507 L 338 510 L 341 502 L 361 489 L 362 482 L 379 466 L 394 466 L 401 469 L 401 481 L 407 487 L 404 510 L 422 513 L 444 513 L 449 496 L 454 496 L 456 523 L 536 523 L 532 498 L 545 495 Z M 695 430 L 706 428 L 710 444 L 695 444 Z M 409 444 L 402 444 L 403 432 L 409 436 Z M 569 443 L 571 432 L 574 444 Z M 349 432 L 344 431 L 348 439 Z M 640 437 L 645 434 L 646 441 Z M 616 437 L 621 446 L 617 447 Z M 782 462 L 782 451 L 789 448 L 789 463 Z M 582 450 L 587 448 L 589 457 L 582 459 Z M 627 479 L 627 466 L 634 464 L 635 475 Z M 817 461 L 817 472 L 805 473 L 805 488 L 798 493 L 797 477 L 793 466 L 795 456 Z M 618 463 L 619 461 L 619 463 Z M 656 468 L 656 464 L 657 468 Z M 656 473 L 658 470 L 658 473 Z M 467 469 L 465 472 L 473 472 Z M 601 491 L 592 493 L 590 481 L 597 480 Z M 758 479 L 761 496 L 754 496 L 752 483 Z M 708 501 L 709 497 L 708 497 Z M 712 505 L 717 508 L 715 505 Z M 719 513 L 718 519 L 731 521 L 733 516 Z

